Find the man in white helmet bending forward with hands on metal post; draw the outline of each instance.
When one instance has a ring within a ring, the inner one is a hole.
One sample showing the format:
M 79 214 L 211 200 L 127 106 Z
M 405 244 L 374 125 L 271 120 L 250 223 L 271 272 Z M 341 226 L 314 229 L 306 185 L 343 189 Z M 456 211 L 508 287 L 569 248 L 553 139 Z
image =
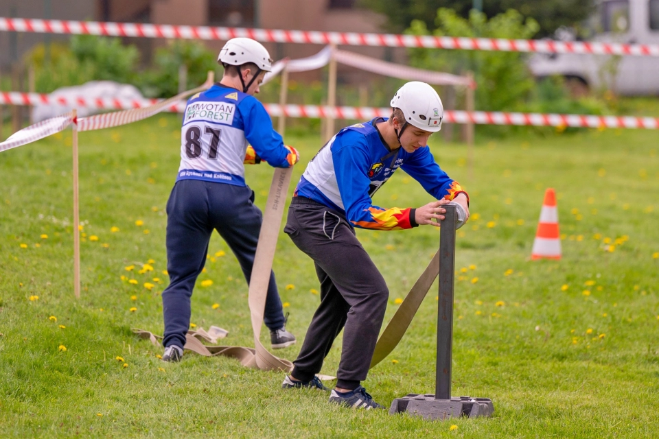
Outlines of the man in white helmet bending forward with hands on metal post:
M 354 228 L 439 226 L 437 221 L 446 213 L 441 206 L 449 202 L 458 204 L 461 224 L 469 216 L 467 193 L 439 168 L 427 146 L 443 118 L 437 92 L 423 82 L 408 82 L 397 91 L 391 107 L 391 118 L 343 128 L 312 158 L 297 185 L 284 228 L 314 260 L 321 304 L 282 387 L 324 389 L 315 374 L 343 329 L 336 388 L 329 401 L 367 410 L 384 408 L 360 382 L 367 377 L 389 290 Z M 399 167 L 438 201 L 417 209 L 373 205 L 375 192 Z

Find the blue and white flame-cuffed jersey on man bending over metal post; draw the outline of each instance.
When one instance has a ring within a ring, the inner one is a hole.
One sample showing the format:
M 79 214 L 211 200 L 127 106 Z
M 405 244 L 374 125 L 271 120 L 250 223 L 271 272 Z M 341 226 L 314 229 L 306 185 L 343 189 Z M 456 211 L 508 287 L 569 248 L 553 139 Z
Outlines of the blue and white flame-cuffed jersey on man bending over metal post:
M 452 200 L 459 193 L 467 195 L 435 163 L 428 146 L 415 152 L 406 152 L 402 147 L 389 150 L 375 128 L 375 123 L 386 120 L 376 118 L 340 130 L 309 162 L 295 194 L 345 213 L 356 227 L 378 230 L 417 225 L 415 209 L 382 208 L 371 200 L 399 167 L 437 200 Z

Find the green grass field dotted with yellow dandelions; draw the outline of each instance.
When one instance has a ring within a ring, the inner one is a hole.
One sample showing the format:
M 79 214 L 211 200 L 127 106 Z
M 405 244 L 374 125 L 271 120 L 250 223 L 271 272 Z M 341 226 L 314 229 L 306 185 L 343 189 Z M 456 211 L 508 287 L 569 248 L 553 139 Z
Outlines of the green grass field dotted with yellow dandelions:
M 437 423 L 334 407 L 327 394 L 281 390 L 282 373 L 231 359 L 189 354 L 163 364 L 161 349 L 132 335 L 135 327 L 162 332 L 163 209 L 179 135 L 173 115 L 80 134 L 80 300 L 72 287 L 71 132 L 0 154 L 0 436 L 659 436 L 656 132 L 482 140 L 472 176 L 464 145 L 434 139 L 437 161 L 472 199 L 456 250 L 463 270 L 453 394 L 492 398 L 496 410 L 493 418 Z M 316 133 L 287 141 L 304 162 L 319 147 Z M 295 168 L 294 182 L 303 169 Z M 272 172 L 247 170 L 260 206 Z M 546 187 L 557 191 L 564 258 L 529 261 Z M 375 198 L 380 206 L 428 201 L 402 171 Z M 386 323 L 439 233 L 358 230 L 358 237 L 390 287 Z M 149 259 L 154 270 L 140 274 Z M 226 344 L 250 346 L 246 282 L 218 236 L 206 268 L 192 322 L 224 327 Z M 284 233 L 275 273 L 288 328 L 301 340 L 319 287 L 312 261 Z M 375 401 L 388 406 L 408 392 L 434 390 L 435 296 L 436 286 L 402 344 L 365 381 Z M 277 354 L 294 359 L 299 346 Z M 324 373 L 334 375 L 339 355 L 340 340 Z

